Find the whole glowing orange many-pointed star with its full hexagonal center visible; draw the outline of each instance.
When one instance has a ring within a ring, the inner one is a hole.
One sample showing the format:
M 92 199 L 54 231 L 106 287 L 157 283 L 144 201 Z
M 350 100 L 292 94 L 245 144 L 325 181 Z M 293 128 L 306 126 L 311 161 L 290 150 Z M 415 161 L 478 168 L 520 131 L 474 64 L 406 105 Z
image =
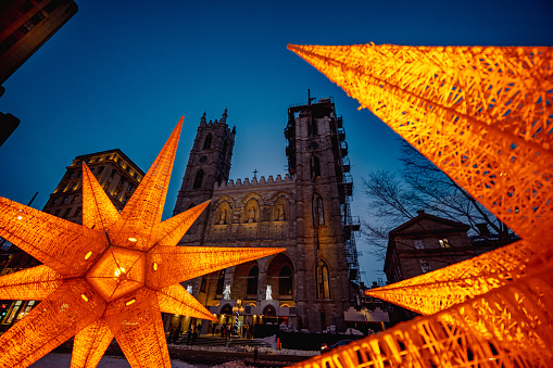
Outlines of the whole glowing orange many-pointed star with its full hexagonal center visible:
M 0 337 L 0 367 L 75 335 L 72 368 L 113 338 L 133 367 L 171 367 L 161 312 L 214 320 L 179 282 L 284 251 L 175 246 L 209 202 L 161 221 L 184 117 L 121 214 L 83 164 L 83 225 L 0 199 L 0 237 L 43 265 L 0 277 L 0 300 L 41 300 Z

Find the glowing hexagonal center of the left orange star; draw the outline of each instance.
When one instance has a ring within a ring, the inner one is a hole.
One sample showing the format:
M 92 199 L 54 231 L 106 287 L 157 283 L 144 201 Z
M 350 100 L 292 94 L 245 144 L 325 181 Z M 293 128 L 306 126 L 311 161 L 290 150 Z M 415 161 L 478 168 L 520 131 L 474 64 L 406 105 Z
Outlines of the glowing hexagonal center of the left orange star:
M 124 296 L 144 284 L 146 254 L 110 246 L 86 275 L 105 302 Z

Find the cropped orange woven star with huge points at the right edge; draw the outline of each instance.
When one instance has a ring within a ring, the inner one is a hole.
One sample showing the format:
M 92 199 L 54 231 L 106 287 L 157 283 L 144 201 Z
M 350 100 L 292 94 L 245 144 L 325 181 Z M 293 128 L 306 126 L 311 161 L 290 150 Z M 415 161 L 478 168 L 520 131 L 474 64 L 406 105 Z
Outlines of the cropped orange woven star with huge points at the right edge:
M 298 367 L 552 367 L 553 48 L 288 48 L 523 239 L 369 291 L 425 316 Z

